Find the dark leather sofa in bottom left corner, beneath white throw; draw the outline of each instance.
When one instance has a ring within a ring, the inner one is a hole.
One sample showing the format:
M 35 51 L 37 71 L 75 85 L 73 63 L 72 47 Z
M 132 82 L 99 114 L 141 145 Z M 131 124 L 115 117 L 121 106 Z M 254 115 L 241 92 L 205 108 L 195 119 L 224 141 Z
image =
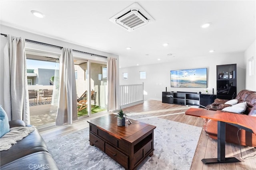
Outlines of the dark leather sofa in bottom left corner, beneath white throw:
M 11 127 L 25 126 L 22 120 L 9 121 Z M 17 141 L 15 145 L 8 150 L 2 150 L 1 170 L 25 170 L 25 169 L 50 169 L 58 170 L 58 165 L 48 153 L 46 143 L 35 129 L 27 137 Z

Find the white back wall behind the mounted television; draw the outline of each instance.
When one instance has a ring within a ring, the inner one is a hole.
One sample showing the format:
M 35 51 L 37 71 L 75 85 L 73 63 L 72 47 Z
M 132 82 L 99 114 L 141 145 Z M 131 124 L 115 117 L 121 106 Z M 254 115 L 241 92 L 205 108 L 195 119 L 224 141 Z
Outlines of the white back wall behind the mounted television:
M 189 68 L 208 68 L 208 91 L 211 94 L 214 88 L 216 94 L 216 65 L 237 64 L 237 92 L 245 88 L 245 64 L 244 53 L 212 55 L 201 59 L 176 60 L 172 63 L 150 64 L 145 66 L 134 66 L 120 68 L 120 84 L 141 84 L 144 82 L 144 100 L 154 99 L 162 100 L 162 92 L 165 91 L 184 91 L 184 92 L 202 92 L 202 88 L 171 88 L 170 70 L 189 69 Z M 146 71 L 146 79 L 139 79 L 139 71 Z M 122 79 L 122 73 L 128 73 L 128 79 Z

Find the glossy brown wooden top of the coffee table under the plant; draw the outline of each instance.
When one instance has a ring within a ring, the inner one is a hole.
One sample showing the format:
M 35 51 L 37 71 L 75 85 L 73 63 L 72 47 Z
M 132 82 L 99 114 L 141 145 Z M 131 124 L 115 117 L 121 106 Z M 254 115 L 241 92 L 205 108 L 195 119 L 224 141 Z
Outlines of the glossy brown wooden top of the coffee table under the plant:
M 125 126 L 118 126 L 117 117 L 115 116 L 115 114 L 110 114 L 87 122 L 96 125 L 98 128 L 108 132 L 117 139 L 124 139 L 130 143 L 133 143 L 142 137 L 142 135 L 156 128 L 156 126 L 133 119 L 129 119 L 132 122 L 130 124 L 126 121 Z

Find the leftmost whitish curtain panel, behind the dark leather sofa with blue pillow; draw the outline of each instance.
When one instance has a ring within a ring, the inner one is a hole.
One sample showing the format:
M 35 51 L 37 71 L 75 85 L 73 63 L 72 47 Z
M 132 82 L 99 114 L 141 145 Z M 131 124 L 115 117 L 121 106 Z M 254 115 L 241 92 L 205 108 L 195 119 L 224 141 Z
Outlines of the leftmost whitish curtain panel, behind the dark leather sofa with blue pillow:
M 25 40 L 7 35 L 4 47 L 4 110 L 9 120 L 30 124 Z

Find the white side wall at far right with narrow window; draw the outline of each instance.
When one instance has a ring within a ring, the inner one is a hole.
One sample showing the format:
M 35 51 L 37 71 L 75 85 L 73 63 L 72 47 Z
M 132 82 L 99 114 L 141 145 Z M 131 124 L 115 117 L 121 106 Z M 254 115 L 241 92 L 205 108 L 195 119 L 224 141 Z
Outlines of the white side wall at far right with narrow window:
M 246 86 L 245 88 L 248 90 L 253 90 L 256 91 L 256 41 L 254 41 L 248 49 L 244 52 L 244 63 L 246 64 Z M 253 64 L 254 64 L 254 70 L 253 74 L 250 76 L 249 75 L 249 62 L 248 60 L 253 57 Z

